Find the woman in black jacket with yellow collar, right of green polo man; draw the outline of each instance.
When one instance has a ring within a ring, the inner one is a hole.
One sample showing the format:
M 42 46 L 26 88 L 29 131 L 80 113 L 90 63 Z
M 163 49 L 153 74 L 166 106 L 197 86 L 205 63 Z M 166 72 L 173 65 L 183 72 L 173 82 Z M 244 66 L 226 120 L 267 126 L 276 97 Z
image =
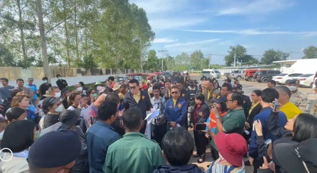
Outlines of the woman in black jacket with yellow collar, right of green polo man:
M 262 106 L 260 103 L 261 92 L 262 92 L 261 90 L 254 90 L 254 91 L 252 91 L 252 94 L 251 94 L 252 104 L 248 109 L 249 116 L 246 119 L 246 122 L 244 124 L 245 129 L 247 129 L 249 131 L 249 134 L 246 134 L 244 132 L 242 134 L 242 136 L 244 137 L 244 139 L 246 141 L 248 141 L 251 137 L 252 125 L 253 125 L 252 121 L 253 121 L 254 116 L 259 114 L 260 111 L 262 110 Z

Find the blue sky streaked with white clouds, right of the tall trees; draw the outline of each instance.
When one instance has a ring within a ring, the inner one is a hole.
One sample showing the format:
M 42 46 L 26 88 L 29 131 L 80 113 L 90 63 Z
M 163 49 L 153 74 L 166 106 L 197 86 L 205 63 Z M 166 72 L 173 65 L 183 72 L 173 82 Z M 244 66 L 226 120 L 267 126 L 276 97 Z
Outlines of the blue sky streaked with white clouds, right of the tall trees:
M 195 50 L 223 55 L 235 44 L 244 45 L 251 55 L 262 55 L 272 48 L 301 52 L 309 45 L 317 45 L 316 0 L 130 2 L 147 12 L 156 34 L 151 49 L 157 51 L 163 46 L 171 56 Z M 301 57 L 300 53 L 291 55 L 291 59 Z M 212 56 L 211 64 L 224 64 L 223 56 Z

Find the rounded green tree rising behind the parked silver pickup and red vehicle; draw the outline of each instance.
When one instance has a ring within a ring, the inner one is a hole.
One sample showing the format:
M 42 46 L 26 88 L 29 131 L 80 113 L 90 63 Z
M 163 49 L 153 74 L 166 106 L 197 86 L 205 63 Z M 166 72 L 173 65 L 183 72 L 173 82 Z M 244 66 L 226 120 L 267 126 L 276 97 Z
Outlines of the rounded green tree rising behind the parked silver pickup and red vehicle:
M 245 57 L 247 53 L 247 49 L 243 47 L 243 45 L 237 44 L 235 46 L 229 46 L 228 53 L 229 55 L 226 55 L 223 60 L 225 61 L 226 66 L 232 66 L 234 65 L 234 57 L 236 55 L 236 64 L 242 63 L 243 58 Z

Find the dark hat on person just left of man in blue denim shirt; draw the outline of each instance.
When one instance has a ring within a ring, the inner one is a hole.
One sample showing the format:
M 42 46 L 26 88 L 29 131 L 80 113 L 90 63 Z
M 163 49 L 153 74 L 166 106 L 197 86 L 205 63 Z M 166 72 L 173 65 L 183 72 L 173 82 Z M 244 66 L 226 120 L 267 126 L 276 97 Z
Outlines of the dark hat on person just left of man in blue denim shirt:
M 60 122 L 62 129 L 68 129 L 70 126 L 77 123 L 80 116 L 81 109 L 76 108 L 74 110 L 64 110 L 60 115 Z

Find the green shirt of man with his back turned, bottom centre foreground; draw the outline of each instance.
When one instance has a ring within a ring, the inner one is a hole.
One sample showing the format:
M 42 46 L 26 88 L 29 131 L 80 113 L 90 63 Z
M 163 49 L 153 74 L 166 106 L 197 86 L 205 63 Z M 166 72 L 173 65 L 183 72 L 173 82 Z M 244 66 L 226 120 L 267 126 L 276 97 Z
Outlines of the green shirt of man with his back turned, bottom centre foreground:
M 114 141 L 107 150 L 103 171 L 106 173 L 153 172 L 166 164 L 159 145 L 138 132 L 129 132 Z

